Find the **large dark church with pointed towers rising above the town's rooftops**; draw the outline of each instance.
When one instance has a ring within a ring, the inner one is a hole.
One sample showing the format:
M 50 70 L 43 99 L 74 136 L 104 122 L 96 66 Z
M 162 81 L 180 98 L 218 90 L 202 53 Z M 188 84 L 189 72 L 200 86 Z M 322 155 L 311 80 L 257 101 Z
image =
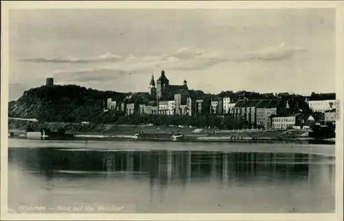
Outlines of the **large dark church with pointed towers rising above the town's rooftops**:
M 151 82 L 149 82 L 148 88 L 149 95 L 156 97 L 157 100 L 167 99 L 173 93 L 178 93 L 183 90 L 189 90 L 186 80 L 181 85 L 169 84 L 169 79 L 166 77 L 164 70 L 161 71 L 160 77 L 156 80 L 156 84 L 154 75 L 151 76 Z

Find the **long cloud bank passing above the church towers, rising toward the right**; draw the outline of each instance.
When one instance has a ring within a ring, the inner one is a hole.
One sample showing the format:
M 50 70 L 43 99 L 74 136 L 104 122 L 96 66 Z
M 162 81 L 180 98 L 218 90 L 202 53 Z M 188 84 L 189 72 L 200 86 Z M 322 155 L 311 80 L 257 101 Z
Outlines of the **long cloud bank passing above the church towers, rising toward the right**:
M 175 69 L 183 71 L 194 71 L 208 69 L 224 62 L 249 62 L 252 60 L 273 61 L 290 58 L 299 51 L 305 51 L 301 47 L 287 47 L 284 43 L 277 47 L 266 47 L 256 51 L 246 53 L 232 53 L 230 51 L 205 51 L 203 49 L 187 49 L 183 47 L 171 54 L 162 54 L 160 56 L 134 56 L 129 55 L 126 58 L 120 56 L 96 57 L 98 60 L 121 58 L 118 62 L 110 62 L 94 67 L 85 67 L 82 69 L 68 69 L 54 71 L 54 78 L 59 81 L 71 82 L 104 82 L 106 80 L 115 80 L 126 75 L 151 74 L 157 69 Z M 94 59 L 94 60 L 96 60 Z M 85 62 L 78 60 L 77 62 Z M 88 59 L 91 60 L 91 59 Z M 76 60 L 74 60 L 76 62 Z

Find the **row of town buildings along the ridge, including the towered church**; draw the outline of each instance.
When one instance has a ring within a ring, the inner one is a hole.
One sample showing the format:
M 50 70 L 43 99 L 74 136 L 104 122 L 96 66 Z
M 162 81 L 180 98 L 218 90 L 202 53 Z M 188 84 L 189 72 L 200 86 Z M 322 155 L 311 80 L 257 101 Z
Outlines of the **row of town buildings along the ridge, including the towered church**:
M 322 113 L 328 121 L 335 121 L 335 100 L 303 102 L 314 113 Z M 290 108 L 288 100 L 233 100 L 233 97 L 219 97 L 204 94 L 202 91 L 190 90 L 186 80 L 182 85 L 169 84 L 164 70 L 156 81 L 151 78 L 148 93 L 134 93 L 125 100 L 107 100 L 105 110 L 122 112 L 125 115 L 195 115 L 213 113 L 215 115 L 232 115 L 237 121 L 244 121 L 250 128 L 290 128 L 295 124 L 314 120 L 310 114 L 301 113 L 297 106 Z

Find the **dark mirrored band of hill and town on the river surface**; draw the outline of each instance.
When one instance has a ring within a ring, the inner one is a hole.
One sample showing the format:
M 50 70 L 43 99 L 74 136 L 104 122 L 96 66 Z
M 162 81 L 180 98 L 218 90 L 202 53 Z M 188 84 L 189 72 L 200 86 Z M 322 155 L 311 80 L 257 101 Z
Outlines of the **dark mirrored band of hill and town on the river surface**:
M 290 180 L 289 175 L 310 175 L 317 164 L 326 163 L 322 160 L 323 157 L 317 155 L 256 152 L 100 152 L 49 148 L 18 148 L 9 152 L 10 162 L 16 161 L 26 170 L 44 171 L 49 176 L 59 171 L 144 173 L 162 182 L 206 177 L 222 180 L 249 178 L 264 172 L 272 176 L 283 174 Z M 333 165 L 329 162 L 327 167 L 321 168 L 332 173 Z

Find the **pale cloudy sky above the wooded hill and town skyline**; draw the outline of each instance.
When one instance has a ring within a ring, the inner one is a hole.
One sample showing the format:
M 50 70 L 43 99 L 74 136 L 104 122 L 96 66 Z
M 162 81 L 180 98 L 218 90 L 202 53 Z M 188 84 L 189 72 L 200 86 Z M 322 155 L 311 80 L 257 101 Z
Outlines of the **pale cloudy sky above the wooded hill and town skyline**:
M 12 10 L 9 99 L 45 84 L 206 93 L 335 92 L 333 9 Z

